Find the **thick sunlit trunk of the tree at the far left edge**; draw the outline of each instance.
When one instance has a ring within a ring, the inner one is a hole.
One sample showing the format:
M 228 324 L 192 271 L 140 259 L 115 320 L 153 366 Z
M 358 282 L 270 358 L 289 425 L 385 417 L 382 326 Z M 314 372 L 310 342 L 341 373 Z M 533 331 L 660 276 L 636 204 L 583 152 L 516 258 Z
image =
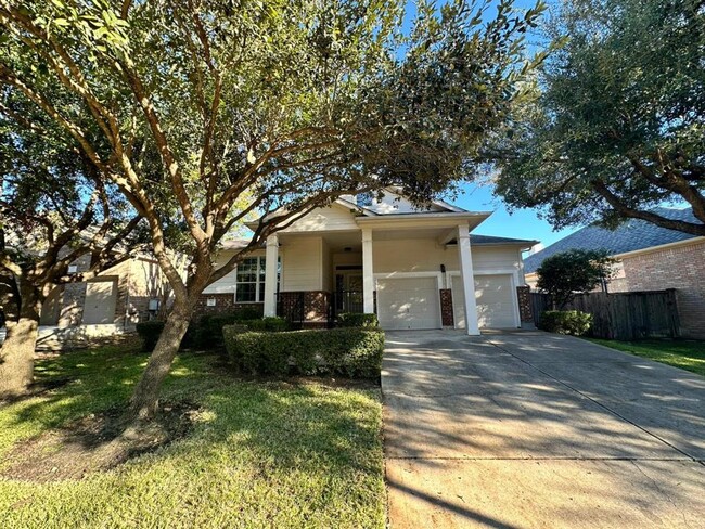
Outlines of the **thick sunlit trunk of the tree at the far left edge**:
M 0 398 L 26 392 L 34 378 L 41 301 L 33 288 L 22 288 L 20 302 L 18 320 L 5 322 L 8 331 L 0 349 Z

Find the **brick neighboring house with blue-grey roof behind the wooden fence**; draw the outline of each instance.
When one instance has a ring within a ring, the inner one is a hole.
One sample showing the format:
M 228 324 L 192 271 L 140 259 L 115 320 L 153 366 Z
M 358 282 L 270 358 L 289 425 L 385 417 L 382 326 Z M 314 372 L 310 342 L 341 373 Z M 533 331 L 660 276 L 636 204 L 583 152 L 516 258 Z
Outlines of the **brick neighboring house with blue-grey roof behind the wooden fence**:
M 690 208 L 656 208 L 667 218 L 698 222 Z M 628 220 L 615 231 L 589 225 L 524 260 L 535 287 L 543 259 L 568 249 L 605 249 L 617 260 L 608 292 L 675 288 L 683 337 L 705 338 L 705 237 Z

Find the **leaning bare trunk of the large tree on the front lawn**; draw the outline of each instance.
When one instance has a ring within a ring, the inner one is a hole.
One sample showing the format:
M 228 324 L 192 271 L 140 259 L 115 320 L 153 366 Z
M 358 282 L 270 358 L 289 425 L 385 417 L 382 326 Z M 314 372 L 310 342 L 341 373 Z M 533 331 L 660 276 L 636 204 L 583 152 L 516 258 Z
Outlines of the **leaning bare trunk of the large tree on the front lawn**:
M 134 387 L 128 410 L 128 421 L 150 421 L 154 417 L 159 402 L 159 387 L 169 374 L 171 362 L 179 351 L 181 339 L 189 328 L 195 302 L 191 299 L 175 300 L 164 324 L 142 378 Z

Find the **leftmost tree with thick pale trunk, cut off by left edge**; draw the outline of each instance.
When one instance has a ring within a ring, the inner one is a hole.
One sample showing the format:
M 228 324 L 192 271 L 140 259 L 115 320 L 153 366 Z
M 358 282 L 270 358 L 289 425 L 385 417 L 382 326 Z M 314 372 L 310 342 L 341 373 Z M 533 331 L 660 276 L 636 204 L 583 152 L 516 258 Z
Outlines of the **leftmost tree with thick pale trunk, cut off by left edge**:
M 50 292 L 127 258 L 140 220 L 114 185 L 94 178 L 52 120 L 10 92 L 1 98 L 0 307 L 7 334 L 0 398 L 24 392 L 33 380 L 37 330 Z M 89 269 L 69 274 L 68 266 L 86 255 Z

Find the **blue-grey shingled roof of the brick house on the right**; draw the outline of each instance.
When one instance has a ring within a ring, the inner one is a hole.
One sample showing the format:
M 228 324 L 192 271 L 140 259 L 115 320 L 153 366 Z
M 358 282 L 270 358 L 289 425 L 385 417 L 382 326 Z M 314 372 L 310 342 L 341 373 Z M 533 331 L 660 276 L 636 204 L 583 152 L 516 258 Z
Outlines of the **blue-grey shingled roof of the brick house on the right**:
M 658 207 L 652 209 L 652 211 L 668 219 L 700 222 L 693 215 L 692 208 L 677 209 Z M 614 231 L 591 224 L 556 241 L 541 251 L 528 256 L 524 259 L 524 270 L 526 273 L 535 272 L 547 257 L 569 249 L 604 249 L 611 256 L 615 256 L 695 237 L 696 235 L 667 230 L 666 228 L 661 228 L 645 220 L 638 219 L 629 219 Z

